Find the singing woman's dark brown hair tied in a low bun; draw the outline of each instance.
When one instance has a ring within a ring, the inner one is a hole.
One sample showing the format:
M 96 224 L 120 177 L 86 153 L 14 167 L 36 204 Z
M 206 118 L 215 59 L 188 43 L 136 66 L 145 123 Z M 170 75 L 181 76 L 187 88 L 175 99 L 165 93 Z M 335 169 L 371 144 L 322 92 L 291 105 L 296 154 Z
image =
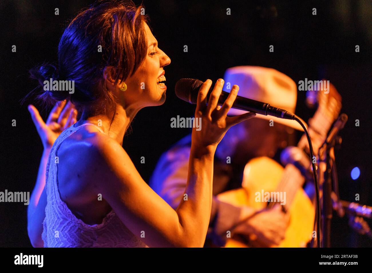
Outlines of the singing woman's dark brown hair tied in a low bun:
M 70 100 L 78 112 L 113 110 L 114 96 L 105 86 L 103 70 L 116 68 L 115 84 L 134 74 L 144 61 L 147 39 L 143 6 L 132 1 L 99 1 L 80 12 L 64 30 L 58 46 L 58 68 L 42 64 L 30 70 L 41 87 L 44 81 L 74 81 L 74 93 L 46 90 L 38 98 L 46 103 Z M 102 47 L 102 52 L 99 48 Z M 49 88 L 52 89 L 52 88 Z

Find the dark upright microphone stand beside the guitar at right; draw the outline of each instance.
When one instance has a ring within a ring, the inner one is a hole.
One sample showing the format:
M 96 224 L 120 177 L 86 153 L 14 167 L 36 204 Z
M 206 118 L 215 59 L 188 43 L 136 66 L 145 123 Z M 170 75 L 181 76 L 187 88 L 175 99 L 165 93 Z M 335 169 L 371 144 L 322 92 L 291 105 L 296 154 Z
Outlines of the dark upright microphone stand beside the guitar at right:
M 337 136 L 339 131 L 344 127 L 347 121 L 347 115 L 341 114 L 337 121 L 334 123 L 327 139 L 324 141 L 323 145 L 319 149 L 319 172 L 323 172 L 324 176 L 320 175 L 320 185 L 322 192 L 322 247 L 330 247 L 330 235 L 331 235 L 331 220 L 333 213 L 332 204 L 332 178 L 335 176 L 333 172 L 334 169 L 334 146 L 339 144 L 341 138 Z M 338 179 L 333 179 L 335 190 L 338 192 Z

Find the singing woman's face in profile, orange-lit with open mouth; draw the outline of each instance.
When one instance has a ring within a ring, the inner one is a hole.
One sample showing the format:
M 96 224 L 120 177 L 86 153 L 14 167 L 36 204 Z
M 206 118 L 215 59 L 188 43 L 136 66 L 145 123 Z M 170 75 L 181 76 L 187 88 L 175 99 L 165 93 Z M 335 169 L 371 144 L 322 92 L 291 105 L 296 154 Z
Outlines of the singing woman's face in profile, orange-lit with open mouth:
M 123 92 L 125 104 L 137 107 L 156 106 L 164 103 L 167 87 L 164 66 L 170 58 L 158 48 L 157 40 L 145 24 L 147 36 L 147 55 L 132 77 L 125 80 L 127 91 Z

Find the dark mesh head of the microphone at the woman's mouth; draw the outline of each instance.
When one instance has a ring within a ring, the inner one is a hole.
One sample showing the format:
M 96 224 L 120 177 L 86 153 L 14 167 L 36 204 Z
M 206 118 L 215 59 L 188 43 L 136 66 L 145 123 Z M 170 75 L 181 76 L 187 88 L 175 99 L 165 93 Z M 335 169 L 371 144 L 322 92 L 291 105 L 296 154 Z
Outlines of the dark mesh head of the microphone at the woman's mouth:
M 198 79 L 180 79 L 176 82 L 174 91 L 176 96 L 188 103 L 196 104 L 199 87 L 203 84 Z

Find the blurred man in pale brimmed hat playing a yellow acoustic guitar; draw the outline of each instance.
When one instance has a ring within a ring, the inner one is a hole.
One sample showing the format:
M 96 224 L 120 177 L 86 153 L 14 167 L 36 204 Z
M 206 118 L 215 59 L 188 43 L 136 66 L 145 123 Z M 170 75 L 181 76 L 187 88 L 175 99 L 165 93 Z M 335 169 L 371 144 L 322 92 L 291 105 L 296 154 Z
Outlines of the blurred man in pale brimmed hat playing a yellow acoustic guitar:
M 243 97 L 265 101 L 295 113 L 296 84 L 275 69 L 237 66 L 227 69 L 224 79 L 225 84 L 239 85 Z M 318 92 L 319 107 L 309 121 L 314 152 L 324 141 L 341 108 L 341 97 L 336 89 L 333 85 L 328 89 L 330 92 Z M 229 114 L 242 112 L 231 109 Z M 278 158 L 281 149 L 294 144 L 294 130 L 302 131 L 295 121 L 257 114 L 227 132 L 214 160 L 214 197 L 206 246 L 306 245 L 313 230 L 315 209 L 302 190 L 304 181 L 298 170 L 292 168 L 293 165 L 287 165 L 283 170 L 271 160 Z M 190 143 L 188 135 L 165 152 L 150 179 L 150 186 L 174 209 L 181 198 L 187 200 L 185 186 Z M 302 138 L 298 147 L 306 150 L 306 139 Z M 291 192 L 288 187 L 293 189 L 294 183 L 297 188 Z M 277 188 L 286 191 L 291 201 L 287 212 L 279 205 L 269 209 L 266 203 L 254 200 L 256 191 Z M 299 234 L 292 234 L 294 230 L 298 230 Z

